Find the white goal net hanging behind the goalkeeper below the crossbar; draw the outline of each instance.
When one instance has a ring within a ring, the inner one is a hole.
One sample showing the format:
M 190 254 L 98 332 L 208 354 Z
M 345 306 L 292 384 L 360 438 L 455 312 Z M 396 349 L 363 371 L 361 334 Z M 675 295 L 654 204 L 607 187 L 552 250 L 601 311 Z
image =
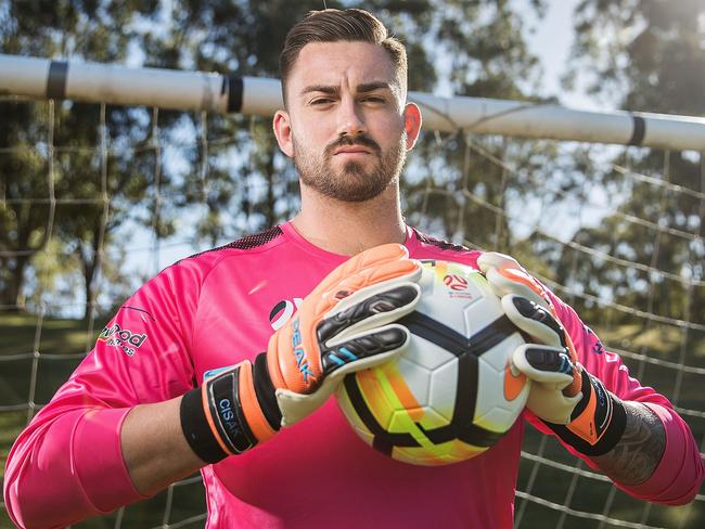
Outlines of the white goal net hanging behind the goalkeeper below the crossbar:
M 134 288 L 182 257 L 283 221 L 298 207 L 296 173 L 268 119 L 254 116 L 277 101 L 249 100 L 260 106 L 246 116 L 218 112 L 217 101 L 209 112 L 187 112 L 158 101 L 118 106 L 125 102 L 16 94 L 0 99 L 2 468 L 21 429 Z M 671 400 L 702 447 L 705 160 L 697 145 L 705 141 L 695 129 L 681 134 L 679 124 L 705 125 L 674 118 L 665 136 L 691 143 L 665 149 L 657 134 L 655 146 L 644 146 L 648 118 L 624 140 L 613 127 L 623 115 L 591 125 L 564 119 L 560 108 L 538 129 L 505 121 L 502 132 L 487 126 L 524 105 L 480 102 L 486 111 L 497 106 L 469 124 L 462 105 L 424 94 L 418 101 L 440 118 L 427 121 L 405 171 L 408 222 L 515 256 L 633 376 Z M 612 144 L 629 141 L 642 145 Z M 701 491 L 684 507 L 636 501 L 526 427 L 516 527 L 703 527 L 704 500 Z M 205 516 L 193 476 L 75 527 L 202 527 Z M 0 527 L 11 527 L 4 504 Z

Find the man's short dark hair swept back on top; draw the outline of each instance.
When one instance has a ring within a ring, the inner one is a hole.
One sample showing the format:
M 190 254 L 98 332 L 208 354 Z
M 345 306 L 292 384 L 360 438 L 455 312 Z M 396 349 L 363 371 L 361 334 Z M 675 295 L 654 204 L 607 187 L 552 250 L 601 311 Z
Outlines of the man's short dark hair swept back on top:
M 284 49 L 279 56 L 282 95 L 286 103 L 286 80 L 302 49 L 311 42 L 362 41 L 383 47 L 394 63 L 401 90 L 407 89 L 407 50 L 387 33 L 387 28 L 368 11 L 361 9 L 325 9 L 309 11 L 286 34 Z

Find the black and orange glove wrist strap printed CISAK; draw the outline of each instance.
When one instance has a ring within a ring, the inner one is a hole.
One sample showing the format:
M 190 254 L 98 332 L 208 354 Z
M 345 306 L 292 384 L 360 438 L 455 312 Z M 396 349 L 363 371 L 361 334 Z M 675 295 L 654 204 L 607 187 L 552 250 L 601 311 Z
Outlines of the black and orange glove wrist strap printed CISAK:
M 181 399 L 181 429 L 191 449 L 207 463 L 245 452 L 270 439 L 281 412 L 259 354 L 256 369 L 248 360 L 218 370 L 201 388 Z

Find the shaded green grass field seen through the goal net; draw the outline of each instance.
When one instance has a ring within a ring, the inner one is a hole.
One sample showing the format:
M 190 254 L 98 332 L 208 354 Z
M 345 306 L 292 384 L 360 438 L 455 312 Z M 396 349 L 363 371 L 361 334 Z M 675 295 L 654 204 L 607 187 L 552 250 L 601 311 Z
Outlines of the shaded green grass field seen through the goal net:
M 90 348 L 104 321 L 95 322 L 90 331 L 87 322 L 81 320 L 48 319 L 41 322 L 30 314 L 0 315 L 0 407 L 16 405 L 16 411 L 0 412 L 0 472 L 4 470 L 4 461 L 12 441 L 27 422 L 27 402 L 33 390 L 30 380 L 36 373 L 35 402 L 46 403 L 56 388 L 68 377 Z M 605 344 L 616 348 L 636 351 L 650 359 L 659 361 L 678 361 L 687 347 L 688 365 L 703 366 L 705 364 L 705 339 L 702 336 L 687 336 L 683 344 L 682 334 L 670 328 L 640 328 L 623 325 L 611 330 L 597 330 Z M 33 351 L 40 351 L 35 358 Z M 3 360 L 4 359 L 4 360 Z M 630 372 L 644 384 L 657 387 L 667 397 L 677 393 L 679 407 L 687 410 L 703 410 L 702 375 L 679 374 L 678 370 L 663 365 L 639 362 L 638 359 L 625 358 Z M 697 416 L 687 416 L 695 438 L 705 439 L 705 420 Z M 533 428 L 526 428 L 524 450 L 542 454 L 543 457 L 575 467 L 576 459 L 568 454 L 556 441 L 539 435 Z M 518 490 L 526 490 L 533 481 L 531 494 L 544 500 L 564 504 L 566 494 L 572 494 L 569 505 L 573 509 L 602 513 L 605 504 L 611 503 L 610 516 L 619 517 L 632 522 L 644 522 L 655 527 L 705 527 L 705 508 L 702 502 L 687 507 L 664 507 L 654 505 L 644 515 L 644 504 L 629 498 L 621 491 L 613 492 L 608 482 L 575 480 L 575 475 L 563 468 L 540 465 L 533 476 L 535 463 L 528 459 L 522 460 L 522 470 Z M 585 465 L 581 468 L 587 469 Z M 170 517 L 167 524 L 185 520 L 205 512 L 205 498 L 200 482 L 174 488 L 170 500 Z M 123 527 L 151 528 L 164 524 L 164 512 L 169 501 L 166 491 L 154 499 L 131 505 L 123 513 L 113 513 L 103 518 L 97 518 L 74 527 L 112 528 L 116 517 L 121 516 Z M 523 501 L 517 499 L 516 513 L 522 509 Z M 561 513 L 528 502 L 522 511 L 522 528 L 554 527 L 561 521 Z M 642 519 L 643 518 L 643 519 Z M 684 525 L 681 521 L 684 520 Z M 565 520 L 571 529 L 598 528 L 599 521 L 579 516 L 571 516 Z M 179 527 L 202 527 L 203 520 L 196 520 Z M 12 527 L 7 513 L 0 508 L 0 528 Z M 604 525 L 603 527 L 612 527 Z

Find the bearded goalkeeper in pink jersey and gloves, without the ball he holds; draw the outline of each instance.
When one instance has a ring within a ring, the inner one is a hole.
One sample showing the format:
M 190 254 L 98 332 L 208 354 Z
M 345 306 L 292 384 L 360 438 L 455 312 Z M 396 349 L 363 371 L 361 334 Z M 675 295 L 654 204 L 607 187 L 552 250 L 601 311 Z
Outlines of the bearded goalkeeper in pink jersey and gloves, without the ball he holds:
M 480 269 L 534 337 L 512 356 L 534 380 L 530 423 L 636 498 L 690 502 L 703 465 L 665 397 L 511 258 L 405 224 L 398 178 L 421 127 L 405 48 L 364 11 L 324 10 L 292 28 L 280 65 L 273 126 L 300 212 L 177 262 L 120 307 L 15 442 L 12 519 L 63 527 L 200 469 L 209 528 L 511 528 L 522 421 L 482 456 L 416 467 L 370 449 L 330 399 L 403 351 L 416 259 Z

